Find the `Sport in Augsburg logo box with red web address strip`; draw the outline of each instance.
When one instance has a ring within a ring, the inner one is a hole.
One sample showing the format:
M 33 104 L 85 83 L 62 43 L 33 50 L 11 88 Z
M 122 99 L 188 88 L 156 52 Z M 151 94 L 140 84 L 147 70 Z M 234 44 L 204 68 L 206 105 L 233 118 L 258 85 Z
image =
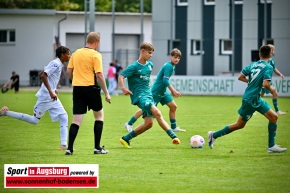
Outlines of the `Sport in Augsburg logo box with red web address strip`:
M 4 164 L 5 188 L 98 188 L 98 164 Z

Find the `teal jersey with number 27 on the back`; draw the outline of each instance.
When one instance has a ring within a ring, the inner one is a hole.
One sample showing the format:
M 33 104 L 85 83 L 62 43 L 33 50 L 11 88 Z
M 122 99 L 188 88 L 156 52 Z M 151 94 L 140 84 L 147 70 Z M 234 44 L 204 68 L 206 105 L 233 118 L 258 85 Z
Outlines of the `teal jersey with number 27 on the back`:
M 257 108 L 261 104 L 260 91 L 263 87 L 264 80 L 271 80 L 273 67 L 259 60 L 243 68 L 243 75 L 248 76 L 248 86 L 243 95 L 243 100 L 247 100 L 253 107 Z

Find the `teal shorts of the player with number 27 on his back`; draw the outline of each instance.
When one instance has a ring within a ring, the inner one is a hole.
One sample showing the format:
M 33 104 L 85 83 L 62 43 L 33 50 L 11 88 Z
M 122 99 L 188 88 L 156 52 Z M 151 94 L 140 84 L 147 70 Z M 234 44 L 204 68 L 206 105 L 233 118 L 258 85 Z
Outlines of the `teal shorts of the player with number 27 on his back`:
M 270 105 L 267 103 L 267 101 L 263 99 L 260 100 L 260 105 L 257 105 L 255 107 L 247 100 L 243 100 L 242 106 L 238 110 L 238 113 L 242 116 L 242 120 L 247 122 L 248 120 L 250 120 L 255 111 L 258 111 L 259 113 L 264 115 L 270 109 Z

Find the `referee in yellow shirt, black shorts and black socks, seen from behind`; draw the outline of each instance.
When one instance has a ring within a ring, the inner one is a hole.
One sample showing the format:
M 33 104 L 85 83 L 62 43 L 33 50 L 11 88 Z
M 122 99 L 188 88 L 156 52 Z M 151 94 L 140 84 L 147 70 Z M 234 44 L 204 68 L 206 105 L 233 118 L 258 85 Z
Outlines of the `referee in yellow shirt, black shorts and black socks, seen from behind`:
M 94 123 L 94 154 L 107 154 L 109 151 L 100 146 L 103 131 L 104 111 L 101 98 L 103 90 L 106 101 L 111 102 L 111 96 L 106 87 L 103 75 L 102 55 L 96 51 L 100 44 L 100 35 L 90 32 L 87 35 L 86 46 L 77 49 L 71 56 L 67 74 L 73 86 L 73 121 L 69 130 L 68 148 L 65 155 L 73 154 L 73 144 L 82 124 L 84 114 L 92 109 Z

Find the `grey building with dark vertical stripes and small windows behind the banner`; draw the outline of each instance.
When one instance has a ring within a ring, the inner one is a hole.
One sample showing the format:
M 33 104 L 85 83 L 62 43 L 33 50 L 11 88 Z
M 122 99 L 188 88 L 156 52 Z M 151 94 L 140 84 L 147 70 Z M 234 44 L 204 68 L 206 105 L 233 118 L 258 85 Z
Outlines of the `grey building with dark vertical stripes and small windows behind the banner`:
M 289 0 L 152 0 L 154 62 L 161 67 L 177 47 L 183 57 L 176 75 L 232 74 L 272 43 L 278 69 L 289 76 L 288 10 Z

